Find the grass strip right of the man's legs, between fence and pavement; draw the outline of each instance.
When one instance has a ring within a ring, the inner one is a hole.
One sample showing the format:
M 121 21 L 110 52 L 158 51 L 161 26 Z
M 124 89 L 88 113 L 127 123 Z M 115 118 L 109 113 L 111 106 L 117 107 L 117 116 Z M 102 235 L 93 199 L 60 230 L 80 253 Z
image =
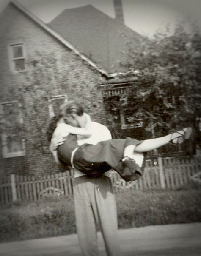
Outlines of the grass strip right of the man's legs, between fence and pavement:
M 200 189 L 118 192 L 119 228 L 200 222 L 200 198 Z

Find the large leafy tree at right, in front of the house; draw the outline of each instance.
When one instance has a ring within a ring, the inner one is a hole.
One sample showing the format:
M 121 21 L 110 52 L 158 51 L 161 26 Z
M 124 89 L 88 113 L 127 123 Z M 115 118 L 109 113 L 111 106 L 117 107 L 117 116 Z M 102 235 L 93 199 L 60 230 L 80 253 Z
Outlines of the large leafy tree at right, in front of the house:
M 138 82 L 120 97 L 118 107 L 133 109 L 128 122 L 143 120 L 146 131 L 162 135 L 184 128 L 201 117 L 201 35 L 187 34 L 177 25 L 172 36 L 157 33 L 141 39 L 139 48 L 128 42 L 124 77 Z

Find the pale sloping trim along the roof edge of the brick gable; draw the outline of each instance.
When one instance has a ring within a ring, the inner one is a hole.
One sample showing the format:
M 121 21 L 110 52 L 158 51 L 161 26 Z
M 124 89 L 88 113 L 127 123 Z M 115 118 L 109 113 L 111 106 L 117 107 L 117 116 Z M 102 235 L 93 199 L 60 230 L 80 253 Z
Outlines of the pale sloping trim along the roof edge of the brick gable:
M 3 9 L 5 9 L 8 4 L 13 4 L 18 9 L 20 9 L 23 13 L 28 15 L 28 17 L 30 17 L 33 21 L 35 21 L 37 24 L 39 24 L 39 26 L 41 26 L 41 28 L 44 28 L 48 33 L 50 33 L 53 37 L 55 37 L 55 39 L 59 40 L 61 43 L 63 43 L 64 46 L 71 49 L 82 60 L 85 60 L 89 65 L 94 67 L 101 74 L 105 75 L 108 78 L 113 77 L 112 74 L 108 74 L 108 72 L 104 68 L 102 68 L 101 66 L 98 66 L 94 61 L 92 61 L 90 58 L 85 56 L 85 54 L 81 53 L 76 47 L 74 47 L 71 43 L 69 43 L 69 41 L 67 41 L 66 38 L 64 38 L 62 36 L 62 34 L 59 34 L 57 31 L 54 31 L 52 28 L 47 26 L 47 24 L 42 22 L 38 17 L 36 17 L 34 14 L 32 14 L 30 11 L 28 11 L 24 6 L 19 4 L 16 0 L 7 1 L 6 3 L 4 3 L 1 11 L 3 11 Z

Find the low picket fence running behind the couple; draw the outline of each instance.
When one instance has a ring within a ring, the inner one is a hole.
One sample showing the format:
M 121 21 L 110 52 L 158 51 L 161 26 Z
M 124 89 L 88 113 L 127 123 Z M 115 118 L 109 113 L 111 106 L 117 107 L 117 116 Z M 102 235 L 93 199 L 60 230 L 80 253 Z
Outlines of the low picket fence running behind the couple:
M 193 157 L 161 158 L 146 161 L 142 178 L 133 182 L 125 182 L 115 171 L 110 171 L 114 190 L 152 188 L 176 189 L 187 184 L 195 176 L 199 180 L 201 159 Z M 195 178 L 194 178 L 195 180 Z M 73 172 L 55 173 L 41 176 L 25 176 L 11 174 L 0 178 L 0 205 L 17 200 L 36 201 L 51 195 L 73 194 Z

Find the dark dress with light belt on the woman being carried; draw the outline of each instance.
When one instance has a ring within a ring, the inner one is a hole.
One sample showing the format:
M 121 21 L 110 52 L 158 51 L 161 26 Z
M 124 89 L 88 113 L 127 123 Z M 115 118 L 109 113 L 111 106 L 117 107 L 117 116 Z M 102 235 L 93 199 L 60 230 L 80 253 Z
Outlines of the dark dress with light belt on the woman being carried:
M 114 169 L 120 176 L 126 180 L 139 179 L 143 174 L 145 158 L 140 167 L 136 163 L 135 170 L 130 170 L 122 162 L 124 148 L 129 145 L 138 145 L 143 141 L 127 137 L 126 139 L 109 139 L 98 142 L 96 145 L 77 144 L 77 136 L 69 134 L 66 141 L 57 148 L 58 157 L 61 162 L 71 166 L 72 151 L 78 148 L 73 157 L 74 167 L 84 174 L 93 174 L 94 172 L 104 173 Z

